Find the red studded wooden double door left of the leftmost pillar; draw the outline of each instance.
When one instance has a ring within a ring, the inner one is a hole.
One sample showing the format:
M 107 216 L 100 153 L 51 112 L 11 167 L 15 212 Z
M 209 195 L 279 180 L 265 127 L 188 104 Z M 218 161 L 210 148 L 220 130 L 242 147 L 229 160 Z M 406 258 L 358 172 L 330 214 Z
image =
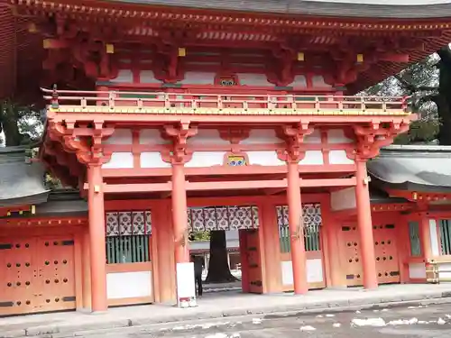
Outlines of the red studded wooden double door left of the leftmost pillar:
M 73 240 L 0 239 L 0 315 L 75 308 Z

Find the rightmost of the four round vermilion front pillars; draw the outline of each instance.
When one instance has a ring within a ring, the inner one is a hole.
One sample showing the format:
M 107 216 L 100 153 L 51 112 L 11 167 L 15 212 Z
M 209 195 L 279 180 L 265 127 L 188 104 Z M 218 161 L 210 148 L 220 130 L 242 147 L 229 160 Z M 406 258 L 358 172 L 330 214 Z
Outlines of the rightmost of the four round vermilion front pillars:
M 364 288 L 377 288 L 376 260 L 374 254 L 373 224 L 371 218 L 370 192 L 366 161 L 356 160 L 355 201 L 357 205 L 357 224 L 360 234 L 362 265 L 364 268 Z

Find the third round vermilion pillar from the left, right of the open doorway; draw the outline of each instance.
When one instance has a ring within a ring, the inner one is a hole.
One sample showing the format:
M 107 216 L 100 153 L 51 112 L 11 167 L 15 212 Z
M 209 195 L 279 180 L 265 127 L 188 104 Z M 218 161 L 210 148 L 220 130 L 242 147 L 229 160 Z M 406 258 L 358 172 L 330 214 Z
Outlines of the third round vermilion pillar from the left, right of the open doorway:
M 288 163 L 288 208 L 291 243 L 291 264 L 293 267 L 294 293 L 302 295 L 308 292 L 306 272 L 306 251 L 301 223 L 302 205 L 299 189 L 299 169 L 297 161 Z

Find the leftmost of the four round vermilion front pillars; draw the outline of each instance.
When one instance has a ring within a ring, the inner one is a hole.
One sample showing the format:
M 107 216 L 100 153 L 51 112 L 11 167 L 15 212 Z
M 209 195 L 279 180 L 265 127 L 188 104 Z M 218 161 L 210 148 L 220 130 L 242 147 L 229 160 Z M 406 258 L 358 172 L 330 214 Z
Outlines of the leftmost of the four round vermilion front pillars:
M 89 259 L 91 263 L 91 308 L 106 311 L 106 239 L 103 178 L 100 164 L 87 165 Z

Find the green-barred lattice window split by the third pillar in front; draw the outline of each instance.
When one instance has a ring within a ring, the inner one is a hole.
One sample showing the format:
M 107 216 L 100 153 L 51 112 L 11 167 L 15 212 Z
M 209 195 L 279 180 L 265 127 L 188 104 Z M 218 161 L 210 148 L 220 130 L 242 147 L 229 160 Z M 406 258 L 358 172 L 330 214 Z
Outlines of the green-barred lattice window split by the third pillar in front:
M 281 252 L 290 252 L 290 229 L 288 206 L 277 206 L 277 224 L 281 241 Z M 306 251 L 320 251 L 320 230 L 322 225 L 321 205 L 319 203 L 302 205 L 304 224 L 304 246 Z

